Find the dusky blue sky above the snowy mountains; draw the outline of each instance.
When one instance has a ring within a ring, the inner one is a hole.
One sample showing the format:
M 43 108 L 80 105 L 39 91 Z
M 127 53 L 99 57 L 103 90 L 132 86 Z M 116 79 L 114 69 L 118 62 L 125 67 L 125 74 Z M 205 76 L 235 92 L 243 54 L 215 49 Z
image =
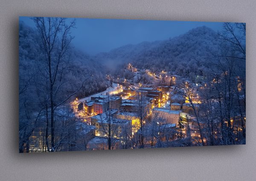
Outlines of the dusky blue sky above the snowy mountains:
M 20 17 L 20 20 L 35 27 L 30 17 Z M 122 45 L 166 40 L 198 26 L 205 25 L 218 31 L 221 30 L 222 24 L 219 22 L 76 18 L 76 28 L 72 30 L 72 35 L 75 36 L 73 45 L 93 55 Z

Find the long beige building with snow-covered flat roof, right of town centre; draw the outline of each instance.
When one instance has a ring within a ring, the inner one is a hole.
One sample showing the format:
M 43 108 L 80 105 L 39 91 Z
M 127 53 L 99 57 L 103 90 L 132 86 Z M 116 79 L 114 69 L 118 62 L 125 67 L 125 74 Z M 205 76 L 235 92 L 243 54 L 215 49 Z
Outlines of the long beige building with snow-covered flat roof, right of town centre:
M 153 112 L 160 113 L 166 119 L 166 123 L 178 125 L 178 119 L 180 117 L 180 110 L 169 110 L 165 108 L 155 107 Z

